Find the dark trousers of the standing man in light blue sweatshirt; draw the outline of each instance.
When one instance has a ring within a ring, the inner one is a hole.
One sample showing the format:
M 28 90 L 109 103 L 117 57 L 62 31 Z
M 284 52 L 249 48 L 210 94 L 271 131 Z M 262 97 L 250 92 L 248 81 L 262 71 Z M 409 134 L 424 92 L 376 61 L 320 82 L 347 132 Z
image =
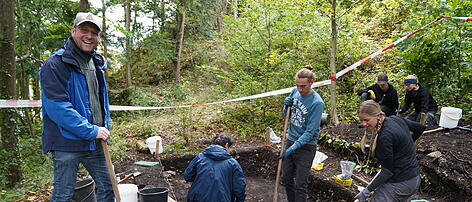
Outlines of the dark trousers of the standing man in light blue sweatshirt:
M 287 140 L 285 148 L 292 146 Z M 282 183 L 289 202 L 304 202 L 308 197 L 308 175 L 316 154 L 316 145 L 303 145 L 282 160 Z

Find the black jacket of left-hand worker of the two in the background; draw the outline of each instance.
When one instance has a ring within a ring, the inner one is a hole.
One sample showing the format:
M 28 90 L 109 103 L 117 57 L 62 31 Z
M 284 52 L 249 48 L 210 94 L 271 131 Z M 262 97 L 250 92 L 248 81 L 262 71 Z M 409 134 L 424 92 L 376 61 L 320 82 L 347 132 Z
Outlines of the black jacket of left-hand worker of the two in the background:
M 392 84 L 388 83 L 387 92 L 383 92 L 382 89 L 380 89 L 379 85 L 374 84 L 363 90 L 360 90 L 359 92 L 357 92 L 357 95 L 360 96 L 363 93 L 367 93 L 367 91 L 369 90 L 372 90 L 375 93 L 374 101 L 388 108 L 384 111 L 385 115 L 390 116 L 395 114 L 395 111 L 398 109 L 398 94 L 397 90 L 395 90 L 395 87 L 393 87 Z

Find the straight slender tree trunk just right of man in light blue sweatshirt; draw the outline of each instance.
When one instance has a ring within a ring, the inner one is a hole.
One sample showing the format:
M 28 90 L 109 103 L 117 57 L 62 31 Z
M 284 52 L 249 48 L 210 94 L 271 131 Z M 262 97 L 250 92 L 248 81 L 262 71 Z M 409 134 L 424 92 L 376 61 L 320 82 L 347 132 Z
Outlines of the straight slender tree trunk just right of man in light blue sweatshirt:
M 331 78 L 336 78 L 336 48 L 337 48 L 337 35 L 338 29 L 336 25 L 336 0 L 332 0 L 331 6 L 333 9 L 333 13 L 331 15 L 331 55 L 329 60 L 329 67 L 331 68 Z M 335 79 L 331 80 L 330 86 L 331 92 L 331 123 L 337 125 L 338 124 L 338 113 L 336 111 L 336 81 Z

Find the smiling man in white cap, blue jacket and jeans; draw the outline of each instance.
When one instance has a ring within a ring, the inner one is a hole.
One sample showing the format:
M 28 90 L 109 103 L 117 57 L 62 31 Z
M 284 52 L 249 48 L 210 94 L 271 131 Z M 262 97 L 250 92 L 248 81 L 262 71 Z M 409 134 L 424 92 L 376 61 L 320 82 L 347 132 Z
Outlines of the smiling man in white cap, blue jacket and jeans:
M 39 70 L 43 152 L 54 164 L 51 202 L 71 200 L 80 163 L 95 181 L 97 201 L 114 201 L 100 143 L 110 136 L 106 61 L 95 52 L 100 31 L 97 16 L 78 13 L 72 37 Z

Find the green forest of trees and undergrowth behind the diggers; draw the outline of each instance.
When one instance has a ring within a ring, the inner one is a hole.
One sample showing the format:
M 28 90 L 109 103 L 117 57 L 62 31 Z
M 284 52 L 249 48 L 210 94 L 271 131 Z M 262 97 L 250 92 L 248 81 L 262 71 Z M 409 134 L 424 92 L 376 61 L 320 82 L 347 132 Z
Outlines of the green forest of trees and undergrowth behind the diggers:
M 104 16 L 101 52 L 111 105 L 209 103 L 294 86 L 312 65 L 329 79 L 440 16 L 471 17 L 460 0 L 3 0 L 0 3 L 0 99 L 39 100 L 37 71 L 70 36 L 75 14 Z M 107 10 L 123 9 L 119 20 Z M 146 19 L 143 23 L 140 19 Z M 316 88 L 331 124 L 358 122 L 355 93 L 386 72 L 403 104 L 402 80 L 416 74 L 440 107 L 472 116 L 472 23 L 443 19 L 337 79 Z M 330 89 L 331 88 L 331 89 Z M 334 96 L 333 96 L 334 95 Z M 262 141 L 281 132 L 286 95 L 191 108 L 113 111 L 113 159 L 153 135 L 172 141 L 165 153 L 199 150 L 196 139 L 225 131 Z M 336 98 L 332 100 L 332 98 Z M 335 104 L 334 104 L 335 103 Z M 333 107 L 335 106 L 335 107 Z M 0 109 L 0 200 L 48 192 L 52 161 L 41 153 L 39 108 Z M 439 114 L 440 112 L 438 112 Z M 335 114 L 333 116 L 333 114 Z

